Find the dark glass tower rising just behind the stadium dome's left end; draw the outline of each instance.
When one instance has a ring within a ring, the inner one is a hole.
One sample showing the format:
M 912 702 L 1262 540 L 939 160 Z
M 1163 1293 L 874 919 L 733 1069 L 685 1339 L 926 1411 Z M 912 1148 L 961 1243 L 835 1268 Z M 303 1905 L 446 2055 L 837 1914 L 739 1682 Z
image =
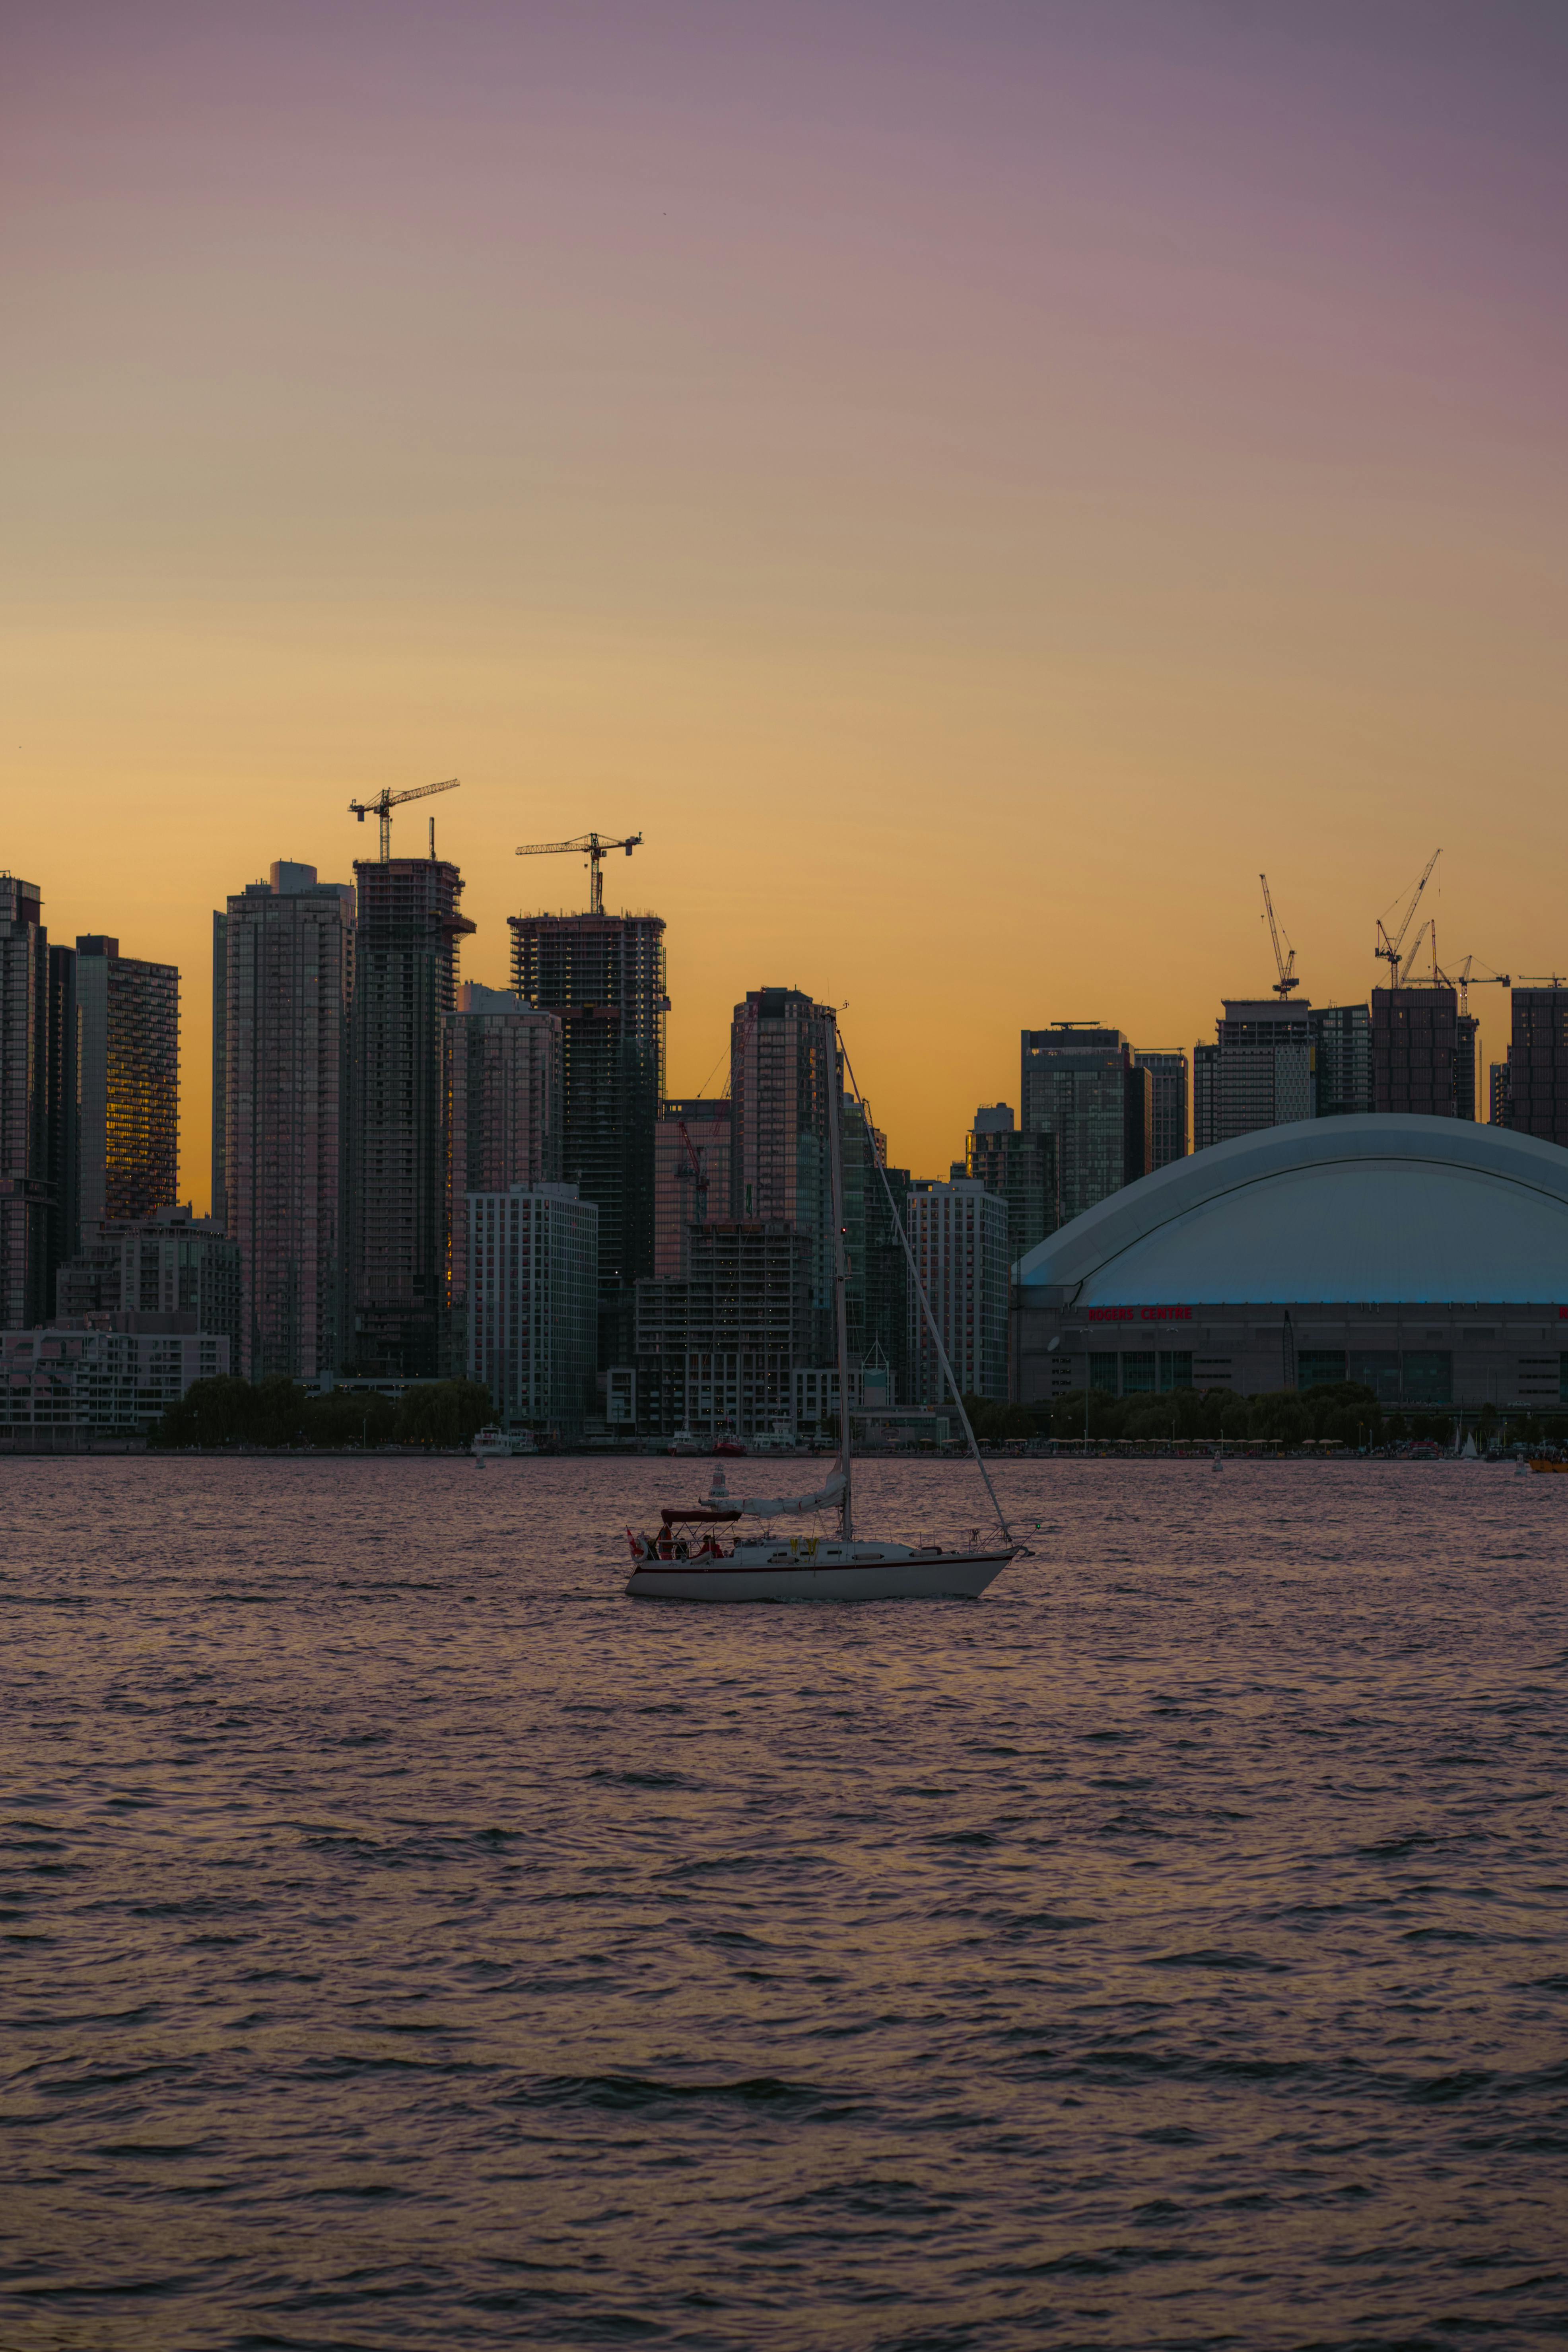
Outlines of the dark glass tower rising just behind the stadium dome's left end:
M 1152 1084 L 1121 1030 L 1086 1021 L 1023 1030 L 1020 1087 L 1023 1134 L 1056 1136 L 1063 1223 L 1147 1176 Z

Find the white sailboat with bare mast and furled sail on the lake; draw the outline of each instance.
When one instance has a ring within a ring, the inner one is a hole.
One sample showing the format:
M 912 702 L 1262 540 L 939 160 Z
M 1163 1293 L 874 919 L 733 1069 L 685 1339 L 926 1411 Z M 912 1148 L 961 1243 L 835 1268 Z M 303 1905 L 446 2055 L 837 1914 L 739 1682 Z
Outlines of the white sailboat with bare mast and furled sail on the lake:
M 849 1070 L 849 1054 L 844 1054 Z M 858 1089 L 856 1089 L 858 1091 Z M 849 1265 L 844 1258 L 844 1136 L 839 1103 L 835 1094 L 827 1120 L 827 1178 L 832 1200 L 832 1322 L 839 1362 L 839 1456 L 823 1486 L 813 1494 L 792 1496 L 731 1496 L 724 1484 L 724 1468 L 715 1470 L 708 1494 L 696 1510 L 663 1510 L 663 1534 L 649 1541 L 628 1526 L 632 1548 L 632 1573 L 625 1590 L 632 1599 L 679 1599 L 679 1602 L 898 1602 L 898 1599 L 978 1599 L 990 1583 L 1023 1550 L 1013 1543 L 1013 1531 L 1001 1517 L 1001 1505 L 985 1475 L 976 1432 L 969 1425 L 959 1385 L 947 1362 L 943 1336 L 931 1312 L 931 1301 L 914 1268 L 914 1251 L 886 1181 L 886 1169 L 877 1162 L 882 1185 L 893 1211 L 893 1225 L 910 1265 L 910 1282 L 926 1317 L 926 1329 L 936 1343 L 943 1376 L 959 1406 L 969 1451 L 976 1470 L 985 1479 L 985 1491 L 997 1512 L 1001 1543 L 983 1543 L 980 1529 L 969 1531 L 959 1545 L 898 1543 L 891 1538 L 856 1536 L 853 1519 L 853 1461 L 849 1446 Z M 762 1519 L 802 1519 L 837 1512 L 837 1534 L 780 1536 L 769 1524 L 764 1534 L 736 1534 L 724 1548 L 722 1529 Z

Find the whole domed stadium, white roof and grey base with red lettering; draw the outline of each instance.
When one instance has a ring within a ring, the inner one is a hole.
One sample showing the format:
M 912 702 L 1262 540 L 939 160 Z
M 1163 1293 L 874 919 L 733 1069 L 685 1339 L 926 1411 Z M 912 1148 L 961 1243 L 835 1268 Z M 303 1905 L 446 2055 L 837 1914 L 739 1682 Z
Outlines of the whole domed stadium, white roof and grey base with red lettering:
M 1298 1120 L 1178 1160 L 1013 1268 L 1011 1390 L 1568 1402 L 1568 1150 L 1467 1120 Z

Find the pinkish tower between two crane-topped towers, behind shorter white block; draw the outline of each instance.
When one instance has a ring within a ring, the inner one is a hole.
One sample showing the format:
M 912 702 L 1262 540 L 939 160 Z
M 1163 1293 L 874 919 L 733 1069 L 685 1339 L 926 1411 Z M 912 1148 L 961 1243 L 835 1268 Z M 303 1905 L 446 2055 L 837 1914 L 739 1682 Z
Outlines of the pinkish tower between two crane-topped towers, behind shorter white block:
M 468 1359 L 468 1197 L 562 1178 L 562 1023 L 505 988 L 463 981 L 447 1014 L 449 1364 Z M 548 1221 L 545 1221 L 548 1223 Z M 510 1228 L 508 1228 L 510 1230 Z M 597 1282 L 597 1214 L 595 1214 Z M 484 1374 L 480 1374 L 484 1378 Z

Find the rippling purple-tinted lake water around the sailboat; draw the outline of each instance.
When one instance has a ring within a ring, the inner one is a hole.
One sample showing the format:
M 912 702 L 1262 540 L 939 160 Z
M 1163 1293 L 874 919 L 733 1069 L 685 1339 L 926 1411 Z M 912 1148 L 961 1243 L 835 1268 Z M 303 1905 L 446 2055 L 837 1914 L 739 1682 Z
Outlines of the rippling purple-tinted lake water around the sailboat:
M 1568 2340 L 1568 1479 L 703 1468 L 0 1463 L 5 2352 Z

